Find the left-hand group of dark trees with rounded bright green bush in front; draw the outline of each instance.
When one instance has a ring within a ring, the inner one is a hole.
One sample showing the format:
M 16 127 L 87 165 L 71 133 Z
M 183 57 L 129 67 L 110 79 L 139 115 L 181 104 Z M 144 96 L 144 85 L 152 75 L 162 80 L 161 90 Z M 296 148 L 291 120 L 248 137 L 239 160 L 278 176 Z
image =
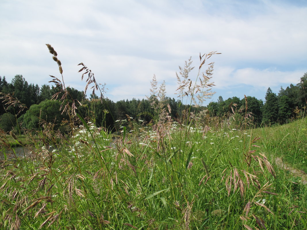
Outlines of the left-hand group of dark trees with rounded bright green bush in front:
M 83 91 L 70 87 L 67 89 L 73 99 L 85 99 Z M 22 75 L 16 75 L 10 83 L 5 76 L 0 76 L 0 128 L 8 132 L 12 128 L 17 128 L 18 131 L 20 128 L 38 129 L 41 121 L 60 124 L 68 119 L 68 116 L 61 114 L 59 101 L 50 101 L 52 96 L 60 91 L 59 88 L 47 84 L 41 87 L 29 84 Z M 58 98 L 61 96 L 59 94 Z

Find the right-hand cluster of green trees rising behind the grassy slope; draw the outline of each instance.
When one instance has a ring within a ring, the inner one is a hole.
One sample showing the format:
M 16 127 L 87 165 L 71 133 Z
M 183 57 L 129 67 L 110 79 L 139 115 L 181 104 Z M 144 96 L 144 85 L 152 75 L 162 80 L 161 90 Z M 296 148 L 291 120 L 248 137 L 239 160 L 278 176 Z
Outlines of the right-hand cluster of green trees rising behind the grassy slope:
M 269 87 L 265 102 L 251 96 L 242 99 L 232 97 L 227 100 L 223 100 L 220 96 L 217 102 L 208 104 L 208 112 L 211 117 L 225 117 L 235 111 L 242 117 L 252 115 L 253 123 L 258 126 L 284 124 L 300 116 L 307 105 L 306 98 L 307 73 L 301 77 L 297 85 L 290 84 L 286 89 L 281 87 L 278 94 L 273 93 Z

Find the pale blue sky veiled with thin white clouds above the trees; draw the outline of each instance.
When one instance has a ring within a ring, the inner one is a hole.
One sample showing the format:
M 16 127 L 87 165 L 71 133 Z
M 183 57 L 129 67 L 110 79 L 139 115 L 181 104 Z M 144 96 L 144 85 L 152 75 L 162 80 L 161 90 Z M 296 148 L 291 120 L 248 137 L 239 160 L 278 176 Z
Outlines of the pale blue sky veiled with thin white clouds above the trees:
M 153 75 L 177 99 L 179 66 L 192 57 L 194 82 L 199 55 L 217 51 L 206 62 L 216 94 L 204 105 L 264 100 L 268 87 L 277 94 L 307 72 L 306 22 L 306 0 L 1 0 L 0 76 L 51 85 L 49 75 L 61 75 L 48 43 L 66 86 L 84 90 L 83 62 L 114 102 L 146 98 Z

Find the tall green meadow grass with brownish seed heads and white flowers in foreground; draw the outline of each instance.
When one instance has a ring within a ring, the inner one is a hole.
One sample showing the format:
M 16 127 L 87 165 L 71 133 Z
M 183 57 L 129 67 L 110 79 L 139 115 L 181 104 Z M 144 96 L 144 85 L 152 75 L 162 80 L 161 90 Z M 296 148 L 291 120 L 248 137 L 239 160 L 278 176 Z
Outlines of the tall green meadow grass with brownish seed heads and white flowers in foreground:
M 157 117 L 152 127 L 134 123 L 138 131 L 123 127 L 114 139 L 71 116 L 72 136 L 59 147 L 36 143 L 30 155 L 1 162 L 2 229 L 307 227 L 306 186 L 276 166 L 270 150 L 282 141 L 266 141 L 277 131 L 240 130 L 229 117 L 195 122 L 188 113 L 177 122 Z

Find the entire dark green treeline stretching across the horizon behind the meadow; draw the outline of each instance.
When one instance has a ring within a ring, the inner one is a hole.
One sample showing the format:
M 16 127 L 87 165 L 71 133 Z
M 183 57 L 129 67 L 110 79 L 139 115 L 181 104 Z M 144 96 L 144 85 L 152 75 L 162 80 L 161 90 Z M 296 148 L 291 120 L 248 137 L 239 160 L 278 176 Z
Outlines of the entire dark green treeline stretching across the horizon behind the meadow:
M 151 122 L 154 116 L 154 109 L 151 106 L 152 98 L 120 100 L 113 102 L 107 98 L 100 100 L 96 95 L 86 98 L 84 91 L 68 87 L 69 104 L 75 103 L 78 113 L 83 117 L 91 117 L 98 127 L 103 126 L 112 130 L 116 125 L 115 121 L 127 119 L 127 115 L 134 119 L 141 120 L 143 124 Z M 29 84 L 22 75 L 16 75 L 10 83 L 5 77 L 0 76 L 0 128 L 5 132 L 12 128 L 23 128 L 38 130 L 52 123 L 54 129 L 62 132 L 69 130 L 69 117 L 60 112 L 61 102 L 51 100 L 52 96 L 62 97 L 61 89 L 44 84 L 39 87 L 37 84 Z M 11 97 L 8 97 L 10 95 Z M 278 94 L 268 88 L 265 102 L 255 97 L 246 98 L 232 97 L 223 100 L 220 96 L 217 102 L 210 102 L 208 106 L 182 105 L 181 101 L 165 97 L 163 104 L 169 105 L 170 116 L 173 120 L 182 120 L 189 112 L 197 116 L 201 112 L 201 119 L 217 117 L 220 120 L 228 119 L 230 115 L 236 115 L 237 121 L 246 120 L 253 125 L 283 124 L 291 119 L 300 116 L 307 105 L 307 73 L 301 77 L 297 85 L 290 84 L 286 89 L 281 88 Z M 15 100 L 15 101 L 14 101 Z M 18 100 L 18 101 L 16 101 Z M 246 105 L 247 102 L 247 105 Z M 8 103 L 8 104 L 7 104 Z M 8 106 L 11 105 L 11 106 Z M 168 109 L 167 109 L 168 110 Z

